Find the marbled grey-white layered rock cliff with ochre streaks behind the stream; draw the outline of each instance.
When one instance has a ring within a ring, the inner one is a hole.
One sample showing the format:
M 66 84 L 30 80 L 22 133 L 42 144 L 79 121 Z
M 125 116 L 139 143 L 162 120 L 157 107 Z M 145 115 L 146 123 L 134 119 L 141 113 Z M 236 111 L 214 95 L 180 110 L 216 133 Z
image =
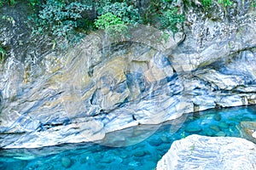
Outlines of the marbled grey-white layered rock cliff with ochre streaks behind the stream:
M 237 2 L 225 14 L 215 5 L 212 14 L 189 9 L 184 33 L 166 42 L 137 26 L 129 38 L 92 33 L 64 55 L 9 57 L 0 74 L 0 147 L 96 141 L 192 111 L 255 104 L 255 10 Z

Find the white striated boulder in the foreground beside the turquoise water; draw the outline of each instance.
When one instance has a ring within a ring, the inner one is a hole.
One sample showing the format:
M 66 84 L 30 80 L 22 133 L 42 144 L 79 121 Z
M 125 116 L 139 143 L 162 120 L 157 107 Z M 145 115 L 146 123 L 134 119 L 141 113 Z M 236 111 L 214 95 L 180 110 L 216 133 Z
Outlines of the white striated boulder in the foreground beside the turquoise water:
M 256 144 L 233 137 L 190 135 L 172 143 L 157 170 L 255 169 Z

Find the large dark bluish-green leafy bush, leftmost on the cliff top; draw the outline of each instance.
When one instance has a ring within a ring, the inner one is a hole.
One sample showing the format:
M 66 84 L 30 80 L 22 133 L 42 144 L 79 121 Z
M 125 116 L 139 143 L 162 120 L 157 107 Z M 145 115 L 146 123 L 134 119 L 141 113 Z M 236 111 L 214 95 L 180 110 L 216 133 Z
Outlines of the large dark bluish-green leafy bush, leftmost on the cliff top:
M 81 34 L 79 29 L 82 13 L 91 9 L 84 3 L 65 3 L 61 0 L 48 0 L 42 5 L 39 14 L 33 18 L 36 28 L 34 34 L 47 32 L 52 37 L 66 37 L 69 42 L 77 42 Z

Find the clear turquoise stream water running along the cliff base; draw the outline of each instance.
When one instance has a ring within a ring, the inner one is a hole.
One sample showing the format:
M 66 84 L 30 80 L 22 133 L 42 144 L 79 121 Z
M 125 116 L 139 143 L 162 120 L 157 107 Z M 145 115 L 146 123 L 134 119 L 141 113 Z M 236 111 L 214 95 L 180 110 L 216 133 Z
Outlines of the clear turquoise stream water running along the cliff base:
M 0 150 L 0 169 L 153 170 L 174 140 L 192 133 L 241 137 L 241 121 L 255 122 L 256 106 L 201 111 L 161 126 L 131 127 L 109 134 L 105 141 L 114 146 L 135 143 L 125 147 L 64 144 L 40 149 Z M 145 139 L 145 134 L 151 134 L 154 129 L 158 130 Z

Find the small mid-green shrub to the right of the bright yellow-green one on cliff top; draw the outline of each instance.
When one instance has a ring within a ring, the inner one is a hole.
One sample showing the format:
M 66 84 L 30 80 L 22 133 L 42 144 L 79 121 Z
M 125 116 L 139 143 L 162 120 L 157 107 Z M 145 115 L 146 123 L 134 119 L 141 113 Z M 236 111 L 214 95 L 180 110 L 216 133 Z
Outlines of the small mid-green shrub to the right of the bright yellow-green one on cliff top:
M 183 14 L 177 14 L 177 7 L 167 9 L 160 17 L 162 28 L 172 31 L 173 34 L 179 31 L 178 27 L 182 26 L 184 19 Z

